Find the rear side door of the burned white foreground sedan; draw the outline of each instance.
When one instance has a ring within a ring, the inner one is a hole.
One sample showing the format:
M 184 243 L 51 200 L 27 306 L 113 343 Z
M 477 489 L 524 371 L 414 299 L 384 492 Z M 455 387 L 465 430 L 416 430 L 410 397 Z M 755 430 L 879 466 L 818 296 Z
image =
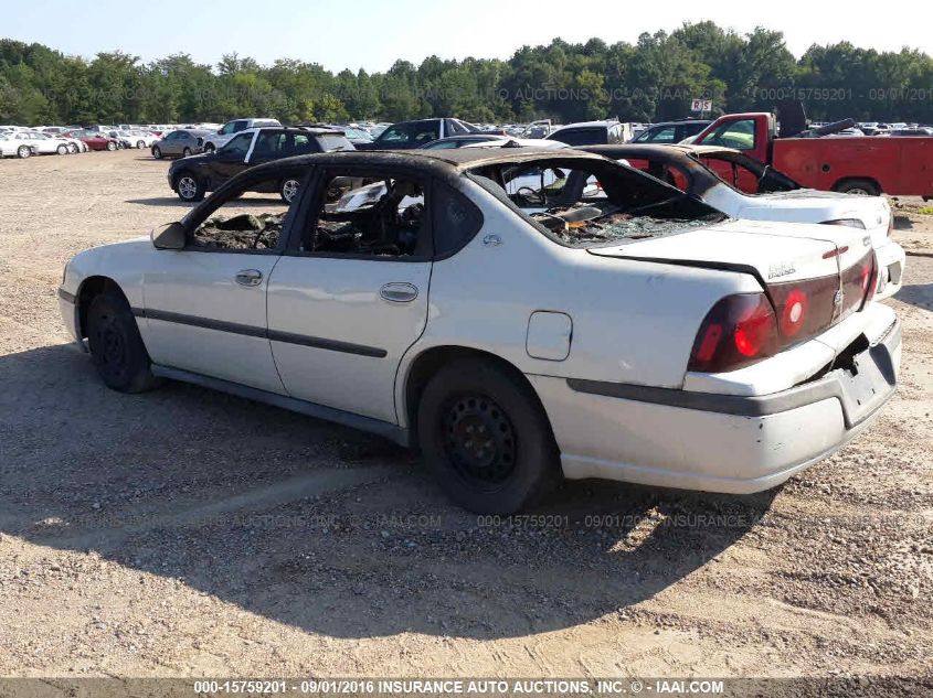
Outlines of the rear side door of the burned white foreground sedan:
M 362 176 L 385 182 L 385 196 L 335 213 Z M 396 423 L 395 373 L 427 322 L 425 185 L 399 168 L 320 174 L 268 290 L 273 355 L 293 397 Z

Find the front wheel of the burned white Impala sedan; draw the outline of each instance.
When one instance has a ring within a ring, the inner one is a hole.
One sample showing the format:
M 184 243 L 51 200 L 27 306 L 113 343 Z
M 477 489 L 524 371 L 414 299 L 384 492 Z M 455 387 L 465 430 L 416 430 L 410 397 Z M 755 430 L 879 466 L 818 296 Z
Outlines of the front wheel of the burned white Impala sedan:
M 96 296 L 87 309 L 87 344 L 104 384 L 120 393 L 142 393 L 157 385 L 149 353 L 126 300 Z

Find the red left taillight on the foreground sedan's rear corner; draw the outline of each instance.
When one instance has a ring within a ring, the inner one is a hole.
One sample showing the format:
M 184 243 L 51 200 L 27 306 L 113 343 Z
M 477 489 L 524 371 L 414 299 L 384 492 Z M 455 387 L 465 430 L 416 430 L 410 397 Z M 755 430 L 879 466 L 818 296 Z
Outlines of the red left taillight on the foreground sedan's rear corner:
M 764 293 L 727 296 L 707 313 L 688 371 L 733 371 L 777 351 L 777 320 Z

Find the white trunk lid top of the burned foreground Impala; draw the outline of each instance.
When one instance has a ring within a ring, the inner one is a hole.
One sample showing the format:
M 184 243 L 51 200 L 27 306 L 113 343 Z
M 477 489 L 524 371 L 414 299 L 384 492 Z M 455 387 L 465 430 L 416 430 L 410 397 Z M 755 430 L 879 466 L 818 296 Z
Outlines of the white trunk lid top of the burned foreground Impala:
M 748 271 L 767 284 L 839 275 L 865 257 L 866 237 L 845 226 L 729 221 L 589 251 Z

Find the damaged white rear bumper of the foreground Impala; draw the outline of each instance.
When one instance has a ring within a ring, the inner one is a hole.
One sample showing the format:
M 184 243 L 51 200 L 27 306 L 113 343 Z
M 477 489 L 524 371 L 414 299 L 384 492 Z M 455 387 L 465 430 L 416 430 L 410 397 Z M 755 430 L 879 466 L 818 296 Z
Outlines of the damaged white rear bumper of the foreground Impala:
M 868 427 L 894 394 L 895 321 L 856 357 L 857 374 L 767 396 L 732 396 L 529 376 L 564 475 L 745 494 L 781 484 Z

